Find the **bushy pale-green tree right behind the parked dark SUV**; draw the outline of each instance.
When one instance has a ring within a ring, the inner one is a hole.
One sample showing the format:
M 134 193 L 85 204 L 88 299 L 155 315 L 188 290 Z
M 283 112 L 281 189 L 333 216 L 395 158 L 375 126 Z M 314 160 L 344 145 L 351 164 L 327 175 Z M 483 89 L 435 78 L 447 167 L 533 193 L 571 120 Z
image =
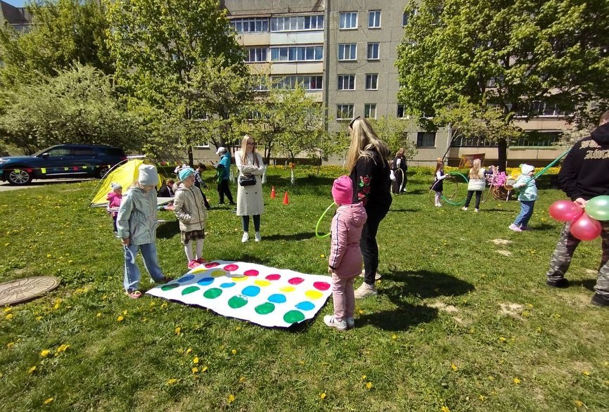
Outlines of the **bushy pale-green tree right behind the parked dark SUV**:
M 6 143 L 27 154 L 58 143 L 139 148 L 139 119 L 117 103 L 100 70 L 77 65 L 43 80 L 5 91 L 0 136 Z

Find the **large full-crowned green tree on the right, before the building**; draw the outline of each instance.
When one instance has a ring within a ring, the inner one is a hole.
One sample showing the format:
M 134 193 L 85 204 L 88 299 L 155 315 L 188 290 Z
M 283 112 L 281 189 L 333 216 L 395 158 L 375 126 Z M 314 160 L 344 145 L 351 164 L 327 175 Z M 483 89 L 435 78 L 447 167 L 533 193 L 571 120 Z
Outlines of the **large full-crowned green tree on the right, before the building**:
M 412 115 L 459 106 L 457 112 L 468 114 L 468 105 L 482 113 L 492 105 L 510 127 L 516 116 L 539 115 L 539 102 L 572 122 L 598 118 L 609 105 L 605 1 L 423 0 L 406 11 L 411 17 L 396 65 L 399 101 Z M 421 124 L 443 125 L 435 118 Z M 498 142 L 504 169 L 508 137 L 490 133 L 485 137 Z

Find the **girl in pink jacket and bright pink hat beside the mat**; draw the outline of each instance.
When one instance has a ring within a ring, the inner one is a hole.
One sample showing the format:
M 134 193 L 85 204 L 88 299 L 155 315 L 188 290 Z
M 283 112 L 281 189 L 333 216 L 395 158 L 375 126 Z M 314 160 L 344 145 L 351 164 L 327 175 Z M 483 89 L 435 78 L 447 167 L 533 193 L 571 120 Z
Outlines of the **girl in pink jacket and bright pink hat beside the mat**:
M 332 245 L 328 257 L 334 314 L 323 316 L 323 321 L 331 328 L 347 330 L 355 326 L 353 283 L 361 273 L 359 238 L 366 223 L 366 210 L 362 202 L 352 203 L 353 183 L 349 176 L 340 176 L 334 181 L 332 197 L 338 206 L 332 218 Z

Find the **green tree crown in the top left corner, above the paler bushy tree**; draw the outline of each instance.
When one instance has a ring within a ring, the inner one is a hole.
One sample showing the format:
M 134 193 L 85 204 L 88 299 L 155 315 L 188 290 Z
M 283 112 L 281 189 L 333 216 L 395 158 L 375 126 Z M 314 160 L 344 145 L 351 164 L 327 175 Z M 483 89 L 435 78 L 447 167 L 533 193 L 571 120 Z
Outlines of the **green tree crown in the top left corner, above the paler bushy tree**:
M 35 83 L 75 63 L 114 72 L 106 46 L 108 20 L 98 1 L 41 0 L 27 11 L 34 22 L 29 32 L 0 27 L 0 86 Z

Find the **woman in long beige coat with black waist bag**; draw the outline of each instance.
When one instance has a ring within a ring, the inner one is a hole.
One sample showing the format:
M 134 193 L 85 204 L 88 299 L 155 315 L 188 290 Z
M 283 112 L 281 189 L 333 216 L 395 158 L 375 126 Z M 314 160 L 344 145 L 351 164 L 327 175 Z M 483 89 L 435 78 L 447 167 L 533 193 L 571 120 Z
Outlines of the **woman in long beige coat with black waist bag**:
M 256 153 L 256 142 L 247 134 L 241 141 L 241 150 L 235 154 L 235 163 L 239 170 L 237 185 L 237 216 L 243 221 L 243 237 L 241 242 L 250 239 L 250 216 L 254 217 L 255 240 L 262 240 L 260 236 L 260 215 L 264 213 L 264 202 L 262 201 L 262 174 L 264 174 L 264 162 L 262 156 Z M 254 176 L 255 184 L 241 186 L 241 179 Z

